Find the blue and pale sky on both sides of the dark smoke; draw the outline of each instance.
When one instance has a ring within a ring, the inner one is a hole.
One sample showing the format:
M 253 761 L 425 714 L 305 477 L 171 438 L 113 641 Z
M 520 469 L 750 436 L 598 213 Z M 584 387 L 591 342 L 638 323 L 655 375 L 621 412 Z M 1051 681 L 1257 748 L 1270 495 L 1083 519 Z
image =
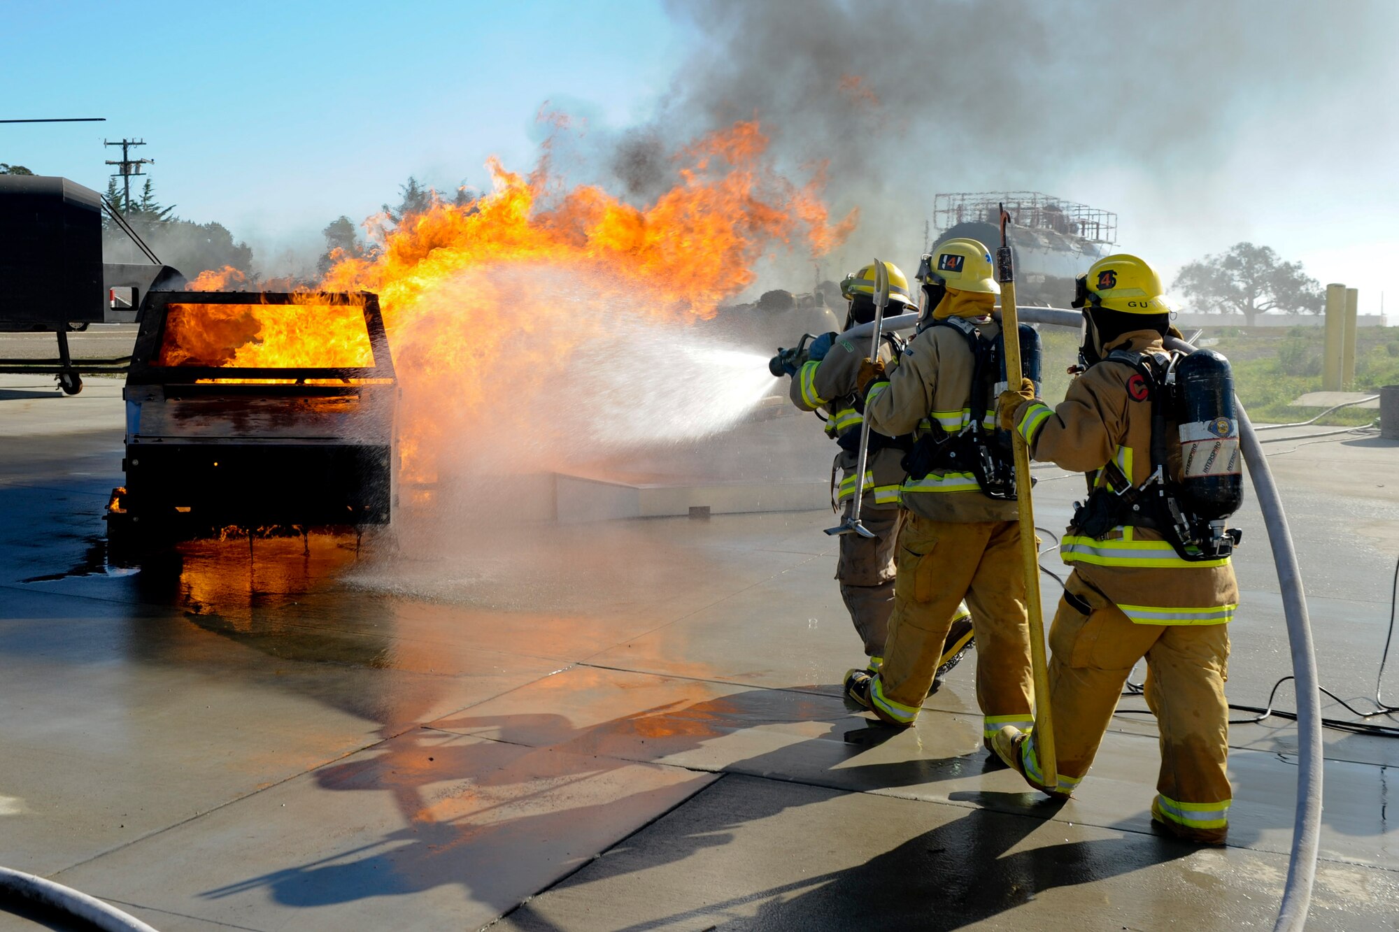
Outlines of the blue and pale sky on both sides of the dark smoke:
M 144 137 L 139 151 L 155 160 L 148 172 L 159 200 L 182 217 L 228 225 L 255 246 L 264 271 L 284 271 L 278 263 L 292 248 L 302 262 L 313 256 L 326 223 L 341 213 L 362 220 L 395 200 L 409 175 L 452 189 L 484 185 L 491 154 L 530 167 L 546 101 L 593 125 L 625 127 L 651 116 L 677 78 L 704 80 L 677 76 L 695 39 L 660 0 L 11 0 L 0 21 L 8 91 L 0 116 L 108 118 L 0 125 L 0 161 L 102 189 L 104 160 L 115 157 L 104 137 Z M 1395 46 L 1396 24 L 1399 15 L 1382 15 L 1361 25 L 1367 35 L 1384 32 L 1370 35 L 1371 55 Z M 905 36 L 901 49 L 922 55 L 935 39 Z M 1212 67 L 1189 52 L 1179 50 L 1161 81 L 1172 80 L 1171 67 Z M 1028 183 L 1115 210 L 1121 246 L 1165 277 L 1241 239 L 1263 242 L 1323 283 L 1358 287 L 1363 313 L 1377 312 L 1389 288 L 1385 311 L 1395 318 L 1399 56 L 1361 64 L 1295 62 L 1298 76 L 1340 76 L 1321 105 L 1272 99 L 1288 97 L 1284 88 L 1272 98 L 1259 92 L 1256 108 L 1242 101 L 1228 151 L 1205 164 L 1182 160 L 1153 174 L 1080 164 L 1042 178 L 964 181 L 981 189 Z M 965 165 L 975 167 L 968 155 Z M 911 202 L 932 193 L 909 192 Z M 866 211 L 866 230 L 880 220 Z M 900 252 L 912 256 L 916 246 Z

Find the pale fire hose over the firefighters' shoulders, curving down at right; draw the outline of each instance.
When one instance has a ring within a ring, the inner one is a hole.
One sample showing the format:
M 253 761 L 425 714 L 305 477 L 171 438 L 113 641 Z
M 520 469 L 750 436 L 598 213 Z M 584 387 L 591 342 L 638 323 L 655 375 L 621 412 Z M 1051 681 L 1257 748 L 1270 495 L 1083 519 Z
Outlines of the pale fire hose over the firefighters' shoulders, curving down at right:
M 1062 308 L 1021 308 L 1017 315 L 1024 323 L 1077 329 L 1083 313 Z M 909 330 L 918 323 L 916 313 L 886 318 L 883 329 Z M 865 337 L 873 325 L 862 323 L 841 336 Z M 1195 347 L 1185 340 L 1167 337 L 1167 347 L 1193 353 Z M 1277 484 L 1267 467 L 1267 458 L 1254 432 L 1238 397 L 1234 399 L 1238 413 L 1240 449 L 1248 463 L 1249 479 L 1254 480 L 1254 494 L 1263 512 L 1267 528 L 1267 542 L 1273 549 L 1273 564 L 1277 567 L 1277 584 L 1283 596 L 1283 616 L 1287 619 L 1287 640 L 1293 652 L 1293 676 L 1297 677 L 1297 814 L 1293 820 L 1293 849 L 1287 862 L 1287 882 L 1283 884 L 1283 901 L 1277 912 L 1274 931 L 1301 929 L 1311 907 L 1312 883 L 1316 879 L 1316 849 L 1321 844 L 1321 684 L 1316 675 L 1316 654 L 1312 648 L 1311 621 L 1307 617 L 1307 593 L 1302 591 L 1301 570 L 1297 565 L 1297 550 L 1287 528 L 1287 515 L 1277 494 Z

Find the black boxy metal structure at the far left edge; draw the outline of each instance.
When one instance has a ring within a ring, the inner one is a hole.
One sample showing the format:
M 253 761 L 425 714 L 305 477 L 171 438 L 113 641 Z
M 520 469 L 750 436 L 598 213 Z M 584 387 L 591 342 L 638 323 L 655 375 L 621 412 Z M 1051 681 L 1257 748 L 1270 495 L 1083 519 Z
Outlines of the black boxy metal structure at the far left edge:
M 0 175 L 0 332 L 101 323 L 102 200 L 67 178 Z

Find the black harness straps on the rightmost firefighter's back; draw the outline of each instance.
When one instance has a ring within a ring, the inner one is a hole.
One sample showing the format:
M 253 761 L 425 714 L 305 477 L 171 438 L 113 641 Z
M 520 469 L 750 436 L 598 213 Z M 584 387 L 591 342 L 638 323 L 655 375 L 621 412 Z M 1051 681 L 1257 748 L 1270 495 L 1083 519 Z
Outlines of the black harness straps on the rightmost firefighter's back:
M 1151 473 L 1140 486 L 1115 460 L 1088 473 L 1088 497 L 1074 502 L 1073 526 L 1102 540 L 1115 528 L 1137 526 L 1160 532 L 1181 560 L 1202 563 L 1233 554 L 1242 532 L 1210 522 L 1193 508 L 1189 491 L 1175 481 L 1167 465 L 1168 423 L 1179 410 L 1175 364 L 1181 354 L 1114 350 L 1104 362 L 1123 362 L 1136 369 L 1128 381 L 1133 400 L 1151 402 Z M 1140 379 L 1140 381 L 1139 381 Z M 1144 396 L 1137 392 L 1144 392 Z

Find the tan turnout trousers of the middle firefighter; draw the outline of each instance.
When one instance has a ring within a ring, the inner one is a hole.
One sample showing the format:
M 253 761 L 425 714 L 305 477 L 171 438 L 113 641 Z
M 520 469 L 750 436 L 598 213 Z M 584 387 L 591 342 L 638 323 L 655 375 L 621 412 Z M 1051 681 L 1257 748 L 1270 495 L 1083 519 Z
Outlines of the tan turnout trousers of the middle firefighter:
M 870 689 L 876 712 L 911 723 L 937 672 L 963 599 L 977 638 L 977 702 L 985 733 L 1028 729 L 1034 675 L 1020 526 L 1013 521 L 947 522 L 909 512 L 898 537 L 894 614 L 884 666 Z

